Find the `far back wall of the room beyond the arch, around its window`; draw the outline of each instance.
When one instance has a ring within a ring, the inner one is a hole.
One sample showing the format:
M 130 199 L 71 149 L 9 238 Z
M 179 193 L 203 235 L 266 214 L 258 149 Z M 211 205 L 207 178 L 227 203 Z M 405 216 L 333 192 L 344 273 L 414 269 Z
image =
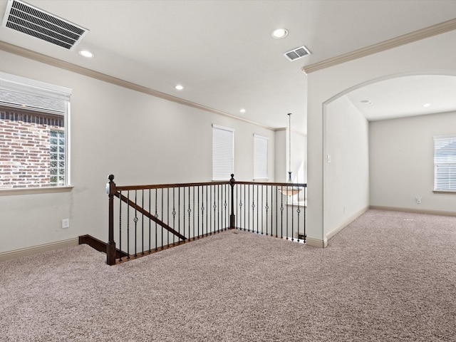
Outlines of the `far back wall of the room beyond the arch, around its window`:
M 450 134 L 456 134 L 455 112 L 372 122 L 371 205 L 456 212 L 454 194 L 432 191 L 432 137 Z M 420 204 L 416 202 L 416 197 L 422 197 Z

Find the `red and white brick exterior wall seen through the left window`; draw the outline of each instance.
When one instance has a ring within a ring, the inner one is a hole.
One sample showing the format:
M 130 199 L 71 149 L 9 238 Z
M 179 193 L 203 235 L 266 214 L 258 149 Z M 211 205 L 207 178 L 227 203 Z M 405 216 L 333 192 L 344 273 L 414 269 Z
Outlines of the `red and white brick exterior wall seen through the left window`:
M 50 132 L 63 117 L 0 109 L 0 189 L 51 185 Z

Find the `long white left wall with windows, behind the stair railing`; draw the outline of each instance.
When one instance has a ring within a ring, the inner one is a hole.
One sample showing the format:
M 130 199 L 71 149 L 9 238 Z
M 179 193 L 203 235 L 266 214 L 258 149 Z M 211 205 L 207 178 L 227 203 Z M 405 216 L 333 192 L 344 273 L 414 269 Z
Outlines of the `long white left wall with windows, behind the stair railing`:
M 253 134 L 274 132 L 0 51 L 0 71 L 73 89 L 71 192 L 0 196 L 0 253 L 91 234 L 107 241 L 105 183 L 207 182 L 212 177 L 212 123 L 234 128 L 234 175 L 253 178 Z M 150 77 L 153 77 L 151 75 Z M 61 220 L 70 228 L 61 229 Z

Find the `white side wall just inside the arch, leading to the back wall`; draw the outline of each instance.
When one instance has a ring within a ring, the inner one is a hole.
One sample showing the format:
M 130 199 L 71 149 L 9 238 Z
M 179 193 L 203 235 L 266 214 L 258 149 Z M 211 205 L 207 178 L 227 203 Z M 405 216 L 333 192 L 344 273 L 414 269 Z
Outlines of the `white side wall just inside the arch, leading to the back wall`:
M 328 236 L 369 206 L 369 124 L 341 96 L 326 106 L 324 128 L 323 225 Z

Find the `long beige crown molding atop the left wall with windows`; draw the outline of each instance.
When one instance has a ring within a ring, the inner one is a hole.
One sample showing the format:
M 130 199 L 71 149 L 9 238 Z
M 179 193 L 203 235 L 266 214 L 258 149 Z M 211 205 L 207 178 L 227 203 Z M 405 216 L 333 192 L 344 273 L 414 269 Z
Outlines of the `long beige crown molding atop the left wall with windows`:
M 156 98 L 162 98 L 168 101 L 172 101 L 175 103 L 180 103 L 181 105 L 187 105 L 192 108 L 197 108 L 200 110 L 205 110 L 210 113 L 218 114 L 218 115 L 223 115 L 227 116 L 229 118 L 232 118 L 234 120 L 239 120 L 243 121 L 244 123 L 249 123 L 251 125 L 257 125 L 262 128 L 266 128 L 267 130 L 272 130 L 274 131 L 274 128 L 271 128 L 266 125 L 261 125 L 260 123 L 255 123 L 254 121 L 250 121 L 244 118 L 239 118 L 239 116 L 232 115 L 229 113 L 222 112 L 222 110 L 217 110 L 214 108 L 207 107 L 205 105 L 199 105 L 198 103 L 194 103 L 192 101 L 184 100 L 182 98 L 177 98 L 176 96 L 172 96 L 166 93 L 162 93 L 158 90 L 153 90 L 151 88 L 147 88 L 145 86 L 140 86 L 136 83 L 128 82 L 125 81 L 121 78 L 115 78 L 113 76 L 106 75 L 105 73 L 99 73 L 98 71 L 93 71 L 88 68 L 84 68 L 82 66 L 77 66 L 76 64 L 73 63 L 68 63 L 66 61 L 61 61 L 58 58 L 53 58 L 51 56 L 46 56 L 43 53 L 38 53 L 35 51 L 28 50 L 27 48 L 21 48 L 20 46 L 16 46 L 11 43 L 6 43 L 6 41 L 0 41 L 0 50 L 3 50 L 8 53 L 13 53 L 14 55 L 17 56 L 22 56 L 28 59 L 32 59 L 33 61 L 38 61 L 41 63 L 48 64 L 50 66 L 55 66 L 57 68 L 61 68 L 67 71 L 71 71 L 73 73 L 78 73 L 83 76 L 88 76 L 90 78 L 95 78 L 98 81 L 103 81 L 107 83 L 111 83 L 115 86 L 120 86 L 123 88 L 128 88 L 130 90 L 135 90 L 140 93 L 145 93 L 147 95 L 152 95 L 155 96 Z

